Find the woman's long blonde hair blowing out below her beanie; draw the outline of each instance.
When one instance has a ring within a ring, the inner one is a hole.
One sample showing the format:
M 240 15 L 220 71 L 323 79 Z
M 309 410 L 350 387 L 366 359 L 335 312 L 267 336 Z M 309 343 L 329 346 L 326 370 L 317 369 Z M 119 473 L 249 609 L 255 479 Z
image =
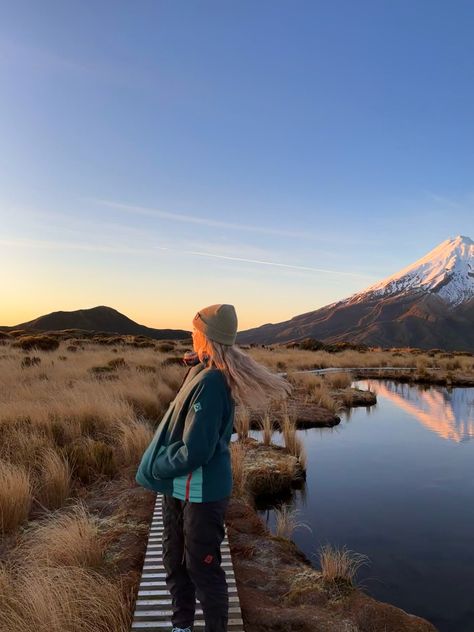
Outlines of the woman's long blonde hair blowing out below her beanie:
M 194 345 L 201 362 L 220 369 L 236 403 L 248 408 L 265 407 L 270 400 L 285 399 L 292 385 L 272 373 L 236 345 L 224 345 L 194 329 Z

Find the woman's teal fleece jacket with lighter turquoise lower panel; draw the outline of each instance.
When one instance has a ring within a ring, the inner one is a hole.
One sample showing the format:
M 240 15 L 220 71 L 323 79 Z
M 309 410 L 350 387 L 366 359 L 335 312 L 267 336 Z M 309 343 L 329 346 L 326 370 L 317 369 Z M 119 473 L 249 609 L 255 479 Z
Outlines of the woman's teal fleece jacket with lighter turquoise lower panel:
M 142 456 L 137 483 L 197 503 L 230 496 L 234 413 L 222 371 L 192 366 Z

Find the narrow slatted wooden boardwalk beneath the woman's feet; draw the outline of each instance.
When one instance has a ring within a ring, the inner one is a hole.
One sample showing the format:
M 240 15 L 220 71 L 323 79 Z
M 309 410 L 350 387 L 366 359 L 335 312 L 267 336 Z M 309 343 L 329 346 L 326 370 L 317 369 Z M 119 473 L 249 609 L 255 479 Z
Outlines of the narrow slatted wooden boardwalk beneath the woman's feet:
M 133 615 L 132 631 L 171 632 L 171 595 L 166 588 L 166 573 L 163 567 L 163 517 L 161 511 L 162 494 L 156 494 L 155 508 L 150 526 L 150 535 L 143 563 L 140 586 Z M 235 583 L 234 569 L 227 539 L 221 544 L 222 568 L 227 577 L 229 587 L 229 623 L 228 632 L 244 632 L 239 595 Z M 196 598 L 196 615 L 194 628 L 196 632 L 204 631 L 204 617 L 199 600 Z

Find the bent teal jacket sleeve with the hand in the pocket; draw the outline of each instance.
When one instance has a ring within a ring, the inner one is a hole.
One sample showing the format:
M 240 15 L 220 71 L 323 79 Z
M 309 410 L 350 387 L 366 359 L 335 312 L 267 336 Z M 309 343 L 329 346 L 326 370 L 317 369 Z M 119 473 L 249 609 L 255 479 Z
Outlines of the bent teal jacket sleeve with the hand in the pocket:
M 224 415 L 220 384 L 206 378 L 199 383 L 188 406 L 182 439 L 170 443 L 152 465 L 156 478 L 174 478 L 207 463 L 214 454 Z

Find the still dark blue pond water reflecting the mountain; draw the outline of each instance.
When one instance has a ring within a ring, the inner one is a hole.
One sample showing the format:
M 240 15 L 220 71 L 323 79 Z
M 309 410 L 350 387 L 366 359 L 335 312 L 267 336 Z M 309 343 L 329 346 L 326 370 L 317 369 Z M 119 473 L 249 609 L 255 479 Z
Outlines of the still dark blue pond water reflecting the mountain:
M 325 543 L 368 555 L 367 593 L 441 632 L 474 632 L 474 388 L 354 385 L 375 390 L 376 406 L 298 431 L 307 480 L 289 504 L 312 533 L 292 537 L 315 567 Z M 260 513 L 274 531 L 273 511 Z

